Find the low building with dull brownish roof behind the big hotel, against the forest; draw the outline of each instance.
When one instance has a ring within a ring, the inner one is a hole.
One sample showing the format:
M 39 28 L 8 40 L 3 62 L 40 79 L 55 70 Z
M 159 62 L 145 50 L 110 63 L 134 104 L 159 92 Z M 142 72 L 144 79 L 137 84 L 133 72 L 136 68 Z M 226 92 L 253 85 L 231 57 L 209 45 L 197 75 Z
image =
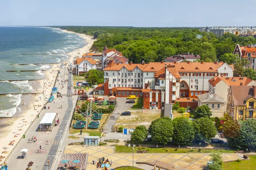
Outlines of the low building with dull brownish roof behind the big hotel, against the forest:
M 186 61 L 196 61 L 197 59 L 201 59 L 200 55 L 196 55 L 196 54 L 189 54 L 189 53 L 186 53 L 186 54 L 180 54 L 180 55 L 177 55 L 177 56 L 171 56 L 171 57 L 168 57 L 166 58 L 164 61 L 165 62 L 183 62 L 184 60 Z

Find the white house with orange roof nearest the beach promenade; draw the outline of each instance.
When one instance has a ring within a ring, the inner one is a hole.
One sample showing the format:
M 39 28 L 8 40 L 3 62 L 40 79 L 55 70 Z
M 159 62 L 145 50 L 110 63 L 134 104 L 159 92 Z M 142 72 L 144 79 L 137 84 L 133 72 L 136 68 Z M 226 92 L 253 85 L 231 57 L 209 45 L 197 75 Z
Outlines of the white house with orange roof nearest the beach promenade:
M 98 68 L 96 65 L 98 65 L 95 60 L 93 60 L 90 57 L 87 58 L 77 58 L 76 64 L 74 65 L 76 75 L 80 75 L 83 73 L 88 72 L 90 69 L 96 69 Z

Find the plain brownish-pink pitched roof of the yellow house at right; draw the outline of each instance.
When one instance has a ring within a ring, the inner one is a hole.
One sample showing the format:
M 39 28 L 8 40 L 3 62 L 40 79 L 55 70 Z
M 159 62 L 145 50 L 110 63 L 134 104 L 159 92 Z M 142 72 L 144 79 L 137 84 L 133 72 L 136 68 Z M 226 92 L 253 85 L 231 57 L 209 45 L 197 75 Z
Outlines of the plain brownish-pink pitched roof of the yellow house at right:
M 245 99 L 248 96 L 253 96 L 252 86 L 231 86 L 231 93 L 235 105 L 246 105 Z

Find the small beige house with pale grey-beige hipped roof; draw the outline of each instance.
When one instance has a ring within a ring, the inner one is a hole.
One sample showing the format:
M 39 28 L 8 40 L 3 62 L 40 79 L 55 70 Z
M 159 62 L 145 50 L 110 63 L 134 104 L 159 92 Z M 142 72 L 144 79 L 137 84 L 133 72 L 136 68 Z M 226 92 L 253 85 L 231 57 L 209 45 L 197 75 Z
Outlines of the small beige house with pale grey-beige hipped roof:
M 221 96 L 216 94 L 201 94 L 198 95 L 198 106 L 207 105 L 212 111 L 212 117 L 223 117 L 225 112 L 226 102 Z

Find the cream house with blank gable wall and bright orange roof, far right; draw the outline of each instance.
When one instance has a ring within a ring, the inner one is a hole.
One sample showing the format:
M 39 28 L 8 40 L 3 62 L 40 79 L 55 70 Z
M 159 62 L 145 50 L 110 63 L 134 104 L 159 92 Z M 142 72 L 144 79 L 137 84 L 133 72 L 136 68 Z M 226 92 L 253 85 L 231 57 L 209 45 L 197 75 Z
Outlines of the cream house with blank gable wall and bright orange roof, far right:
M 242 86 L 242 85 L 256 85 L 256 82 L 248 77 L 213 77 L 209 81 L 209 93 L 221 96 L 227 103 L 227 95 L 230 90 L 230 86 Z M 224 108 L 227 111 L 227 105 Z

